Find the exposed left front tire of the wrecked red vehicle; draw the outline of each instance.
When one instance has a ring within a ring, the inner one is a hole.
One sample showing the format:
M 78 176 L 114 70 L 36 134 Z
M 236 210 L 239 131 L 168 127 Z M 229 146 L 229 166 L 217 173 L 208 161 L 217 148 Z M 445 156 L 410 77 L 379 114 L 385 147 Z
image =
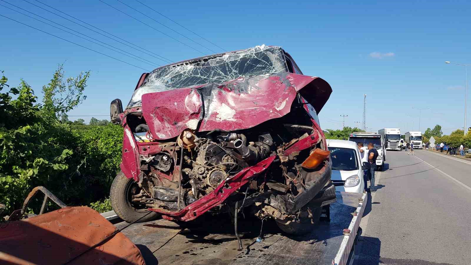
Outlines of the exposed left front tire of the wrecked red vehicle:
M 122 172 L 116 175 L 113 184 L 111 184 L 111 206 L 116 215 L 128 223 L 132 223 L 149 213 L 146 206 L 131 203 L 131 191 L 136 190 L 136 186 L 136 182 L 134 182 L 133 179 L 126 178 Z M 137 187 L 137 189 L 139 188 Z M 141 218 L 138 222 L 141 223 L 155 220 L 158 215 L 159 214 L 156 212 L 152 212 Z

